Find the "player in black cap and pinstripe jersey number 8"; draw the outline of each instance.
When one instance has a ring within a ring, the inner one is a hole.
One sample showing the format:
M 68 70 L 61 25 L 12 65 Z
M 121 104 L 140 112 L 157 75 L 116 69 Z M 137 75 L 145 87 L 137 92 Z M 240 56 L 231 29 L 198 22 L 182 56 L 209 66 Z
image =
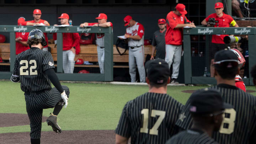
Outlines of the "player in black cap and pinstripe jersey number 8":
M 213 133 L 213 138 L 220 144 L 252 144 L 256 130 L 256 97 L 239 89 L 235 85 L 235 76 L 239 74 L 237 55 L 231 50 L 220 50 L 214 57 L 214 76 L 217 89 L 222 94 L 224 102 L 233 108 L 225 109 L 225 117 L 219 132 Z M 189 113 L 191 98 L 188 99 L 176 125 L 182 129 L 192 126 Z

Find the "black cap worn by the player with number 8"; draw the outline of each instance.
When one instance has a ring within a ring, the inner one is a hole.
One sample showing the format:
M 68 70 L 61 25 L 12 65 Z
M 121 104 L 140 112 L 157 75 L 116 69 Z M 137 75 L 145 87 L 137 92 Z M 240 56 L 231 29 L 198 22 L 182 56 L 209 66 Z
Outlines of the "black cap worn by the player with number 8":
M 213 64 L 217 68 L 236 68 L 239 65 L 239 60 L 234 52 L 224 49 L 215 54 Z

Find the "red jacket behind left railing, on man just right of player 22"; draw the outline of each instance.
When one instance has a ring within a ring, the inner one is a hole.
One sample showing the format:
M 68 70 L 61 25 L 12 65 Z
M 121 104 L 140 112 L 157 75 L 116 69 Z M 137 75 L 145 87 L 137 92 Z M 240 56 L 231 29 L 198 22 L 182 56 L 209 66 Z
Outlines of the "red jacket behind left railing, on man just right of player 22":
M 80 52 L 80 36 L 78 33 L 62 33 L 63 50 L 70 50 L 72 47 L 76 48 L 76 54 Z M 57 40 L 57 33 L 53 33 L 54 41 Z

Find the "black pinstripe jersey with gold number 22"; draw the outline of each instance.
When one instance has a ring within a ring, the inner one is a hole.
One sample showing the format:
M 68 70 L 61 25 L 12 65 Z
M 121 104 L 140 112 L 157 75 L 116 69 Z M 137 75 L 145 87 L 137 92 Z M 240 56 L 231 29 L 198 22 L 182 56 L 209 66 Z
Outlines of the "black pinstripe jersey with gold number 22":
M 17 55 L 12 75 L 20 78 L 24 92 L 50 90 L 50 80 L 44 73 L 50 68 L 54 68 L 50 52 L 32 47 Z

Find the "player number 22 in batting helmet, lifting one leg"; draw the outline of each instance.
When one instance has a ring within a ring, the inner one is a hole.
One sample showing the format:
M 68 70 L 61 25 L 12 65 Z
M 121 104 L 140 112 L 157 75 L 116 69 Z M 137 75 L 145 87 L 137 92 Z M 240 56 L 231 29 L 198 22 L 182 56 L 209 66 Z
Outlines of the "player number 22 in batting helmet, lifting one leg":
M 46 46 L 44 34 L 40 30 L 32 30 L 27 43 L 30 49 L 17 55 L 12 82 L 21 82 L 21 90 L 25 92 L 25 101 L 30 119 L 31 144 L 40 144 L 43 109 L 53 108 L 47 119 L 56 133 L 61 132 L 57 123 L 57 115 L 63 105 L 68 105 L 69 88 L 60 85 L 54 72 L 52 55 L 43 51 Z M 55 86 L 53 89 L 50 82 Z

